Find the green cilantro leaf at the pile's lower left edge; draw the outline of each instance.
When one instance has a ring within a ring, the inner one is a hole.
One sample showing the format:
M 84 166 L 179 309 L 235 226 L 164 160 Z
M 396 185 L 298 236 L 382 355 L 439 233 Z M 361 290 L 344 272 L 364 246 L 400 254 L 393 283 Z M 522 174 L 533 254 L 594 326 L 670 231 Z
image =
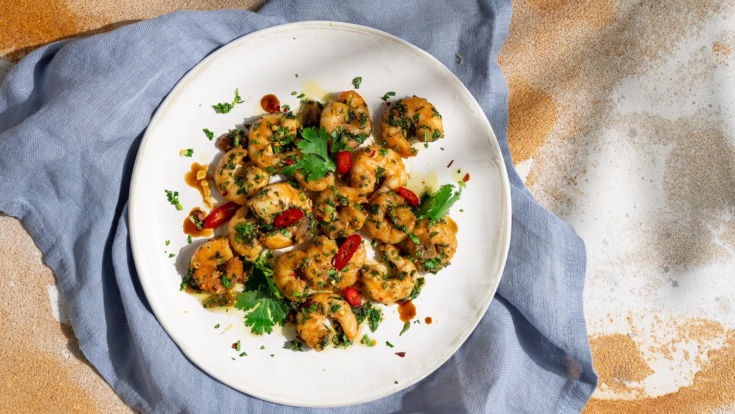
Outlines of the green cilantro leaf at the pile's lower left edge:
M 234 307 L 245 311 L 245 326 L 256 335 L 270 334 L 276 324 L 283 326 L 288 312 L 284 301 L 273 298 L 270 292 L 256 290 L 237 296 Z

